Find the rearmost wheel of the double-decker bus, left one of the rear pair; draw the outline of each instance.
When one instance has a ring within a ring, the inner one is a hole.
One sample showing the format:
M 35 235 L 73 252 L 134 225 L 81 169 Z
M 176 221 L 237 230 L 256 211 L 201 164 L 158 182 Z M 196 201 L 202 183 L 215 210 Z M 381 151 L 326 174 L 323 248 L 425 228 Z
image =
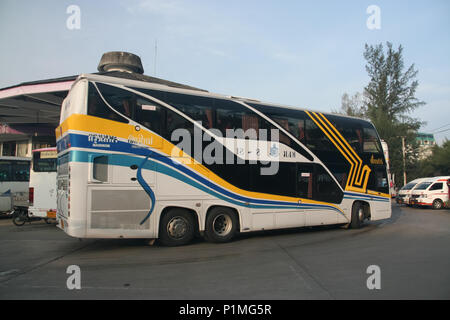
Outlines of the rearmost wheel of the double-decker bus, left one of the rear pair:
M 192 241 L 195 235 L 194 216 L 187 210 L 173 208 L 163 215 L 159 224 L 162 245 L 174 247 Z

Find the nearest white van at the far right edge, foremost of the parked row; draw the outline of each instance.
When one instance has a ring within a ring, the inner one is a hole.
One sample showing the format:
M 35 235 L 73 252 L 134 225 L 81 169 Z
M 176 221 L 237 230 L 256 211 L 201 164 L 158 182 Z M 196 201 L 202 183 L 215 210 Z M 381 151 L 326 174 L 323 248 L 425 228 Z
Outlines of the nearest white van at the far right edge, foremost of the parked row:
M 411 204 L 442 209 L 449 204 L 450 176 L 435 177 L 420 183 L 411 195 Z

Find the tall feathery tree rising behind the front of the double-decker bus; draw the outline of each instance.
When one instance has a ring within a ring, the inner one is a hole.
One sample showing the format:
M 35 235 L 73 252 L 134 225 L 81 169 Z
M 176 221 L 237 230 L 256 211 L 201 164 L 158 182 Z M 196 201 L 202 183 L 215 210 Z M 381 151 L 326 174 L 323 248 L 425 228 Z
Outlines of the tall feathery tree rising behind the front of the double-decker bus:
M 403 176 L 402 139 L 408 145 L 406 167 L 413 168 L 417 162 L 417 130 L 423 124 L 412 118 L 410 113 L 425 102 L 418 100 L 415 93 L 419 82 L 414 64 L 405 69 L 403 47 L 397 50 L 386 43 L 386 53 L 382 44 L 365 45 L 366 71 L 370 77 L 364 88 L 365 115 L 377 128 L 381 139 L 389 147 L 391 172 L 396 177 Z M 397 179 L 399 180 L 399 179 Z

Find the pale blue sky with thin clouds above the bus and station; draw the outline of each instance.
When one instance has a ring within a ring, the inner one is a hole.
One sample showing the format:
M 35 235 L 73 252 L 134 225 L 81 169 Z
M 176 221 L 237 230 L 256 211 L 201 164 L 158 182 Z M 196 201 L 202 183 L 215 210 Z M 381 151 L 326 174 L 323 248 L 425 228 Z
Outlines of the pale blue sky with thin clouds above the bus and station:
M 416 97 L 426 105 L 410 116 L 442 143 L 449 32 L 448 0 L 1 0 L 0 88 L 96 72 L 104 52 L 127 51 L 150 76 L 330 112 L 368 84 L 364 45 L 389 41 L 418 70 Z

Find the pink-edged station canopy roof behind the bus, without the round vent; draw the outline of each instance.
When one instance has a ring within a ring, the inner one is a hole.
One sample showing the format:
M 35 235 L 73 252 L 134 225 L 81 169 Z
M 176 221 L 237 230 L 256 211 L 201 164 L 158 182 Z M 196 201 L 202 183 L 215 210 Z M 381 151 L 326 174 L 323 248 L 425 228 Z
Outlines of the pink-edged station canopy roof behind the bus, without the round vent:
M 145 81 L 169 87 L 206 91 L 184 84 L 123 71 L 96 72 L 95 74 Z M 61 104 L 78 76 L 24 82 L 0 89 L 0 123 L 49 124 L 57 126 Z

